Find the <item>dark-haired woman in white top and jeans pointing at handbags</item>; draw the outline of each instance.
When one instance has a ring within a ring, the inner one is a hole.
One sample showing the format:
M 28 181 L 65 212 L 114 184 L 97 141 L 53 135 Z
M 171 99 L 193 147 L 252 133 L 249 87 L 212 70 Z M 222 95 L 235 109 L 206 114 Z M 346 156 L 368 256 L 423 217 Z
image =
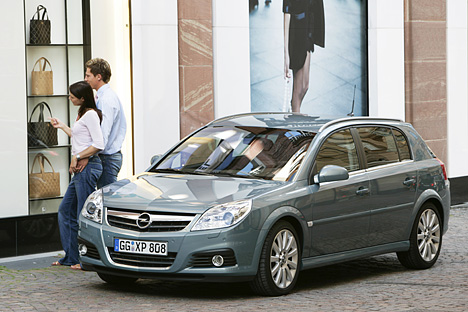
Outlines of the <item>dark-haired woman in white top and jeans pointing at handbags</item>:
M 101 160 L 96 153 L 104 148 L 104 140 L 100 127 L 102 114 L 96 107 L 90 85 L 85 81 L 72 84 L 69 99 L 73 105 L 80 107 L 73 127 L 69 128 L 58 118 L 50 119 L 54 128 L 62 129 L 71 138 L 72 159 L 69 171 L 73 174 L 58 211 L 60 239 L 65 257 L 52 265 L 70 265 L 72 269 L 80 270 L 78 216 L 101 176 Z M 80 159 L 87 159 L 87 164 L 79 162 Z

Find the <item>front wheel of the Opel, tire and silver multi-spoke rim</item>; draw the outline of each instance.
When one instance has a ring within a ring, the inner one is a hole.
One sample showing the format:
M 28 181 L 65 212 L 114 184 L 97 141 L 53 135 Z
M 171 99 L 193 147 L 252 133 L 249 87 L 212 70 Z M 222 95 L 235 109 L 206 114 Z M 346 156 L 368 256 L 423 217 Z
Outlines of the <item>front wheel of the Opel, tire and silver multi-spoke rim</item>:
M 276 223 L 265 239 L 258 272 L 250 287 L 265 296 L 289 293 L 299 276 L 300 260 L 301 246 L 296 231 L 286 221 Z

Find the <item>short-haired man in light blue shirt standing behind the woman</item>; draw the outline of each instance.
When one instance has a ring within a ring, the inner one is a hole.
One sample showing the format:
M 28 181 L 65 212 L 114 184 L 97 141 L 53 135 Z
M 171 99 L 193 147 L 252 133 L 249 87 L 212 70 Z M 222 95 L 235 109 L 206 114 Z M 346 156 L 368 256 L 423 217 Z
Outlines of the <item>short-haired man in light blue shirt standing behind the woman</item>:
M 102 175 L 97 182 L 98 188 L 117 181 L 117 175 L 122 167 L 120 150 L 127 131 L 122 103 L 108 85 L 110 77 L 111 69 L 106 60 L 94 58 L 86 62 L 85 81 L 97 91 L 96 106 L 102 111 L 101 130 L 105 147 L 99 154 Z M 86 166 L 86 159 L 83 160 L 82 168 Z

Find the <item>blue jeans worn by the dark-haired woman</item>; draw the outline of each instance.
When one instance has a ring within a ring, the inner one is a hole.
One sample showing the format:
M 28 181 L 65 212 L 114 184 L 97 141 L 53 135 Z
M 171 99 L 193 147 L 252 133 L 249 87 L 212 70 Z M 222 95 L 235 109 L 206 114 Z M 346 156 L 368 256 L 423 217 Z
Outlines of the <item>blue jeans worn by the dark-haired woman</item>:
M 59 260 L 60 264 L 80 263 L 78 259 L 78 217 L 89 194 L 96 190 L 96 183 L 101 173 L 101 159 L 98 156 L 91 156 L 88 165 L 82 172 L 76 172 L 68 185 L 58 211 L 60 240 L 65 251 L 65 257 Z

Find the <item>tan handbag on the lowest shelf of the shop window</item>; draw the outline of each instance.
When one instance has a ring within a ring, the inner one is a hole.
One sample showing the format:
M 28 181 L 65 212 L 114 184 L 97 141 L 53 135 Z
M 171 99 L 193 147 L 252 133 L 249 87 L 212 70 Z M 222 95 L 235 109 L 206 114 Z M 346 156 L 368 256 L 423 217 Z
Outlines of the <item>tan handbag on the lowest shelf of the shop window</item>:
M 46 172 L 44 163 L 49 163 L 51 172 Z M 33 173 L 36 162 L 40 166 L 39 173 Z M 49 159 L 42 153 L 34 157 L 31 173 L 29 174 L 29 198 L 46 198 L 60 196 L 60 173 L 55 172 Z

